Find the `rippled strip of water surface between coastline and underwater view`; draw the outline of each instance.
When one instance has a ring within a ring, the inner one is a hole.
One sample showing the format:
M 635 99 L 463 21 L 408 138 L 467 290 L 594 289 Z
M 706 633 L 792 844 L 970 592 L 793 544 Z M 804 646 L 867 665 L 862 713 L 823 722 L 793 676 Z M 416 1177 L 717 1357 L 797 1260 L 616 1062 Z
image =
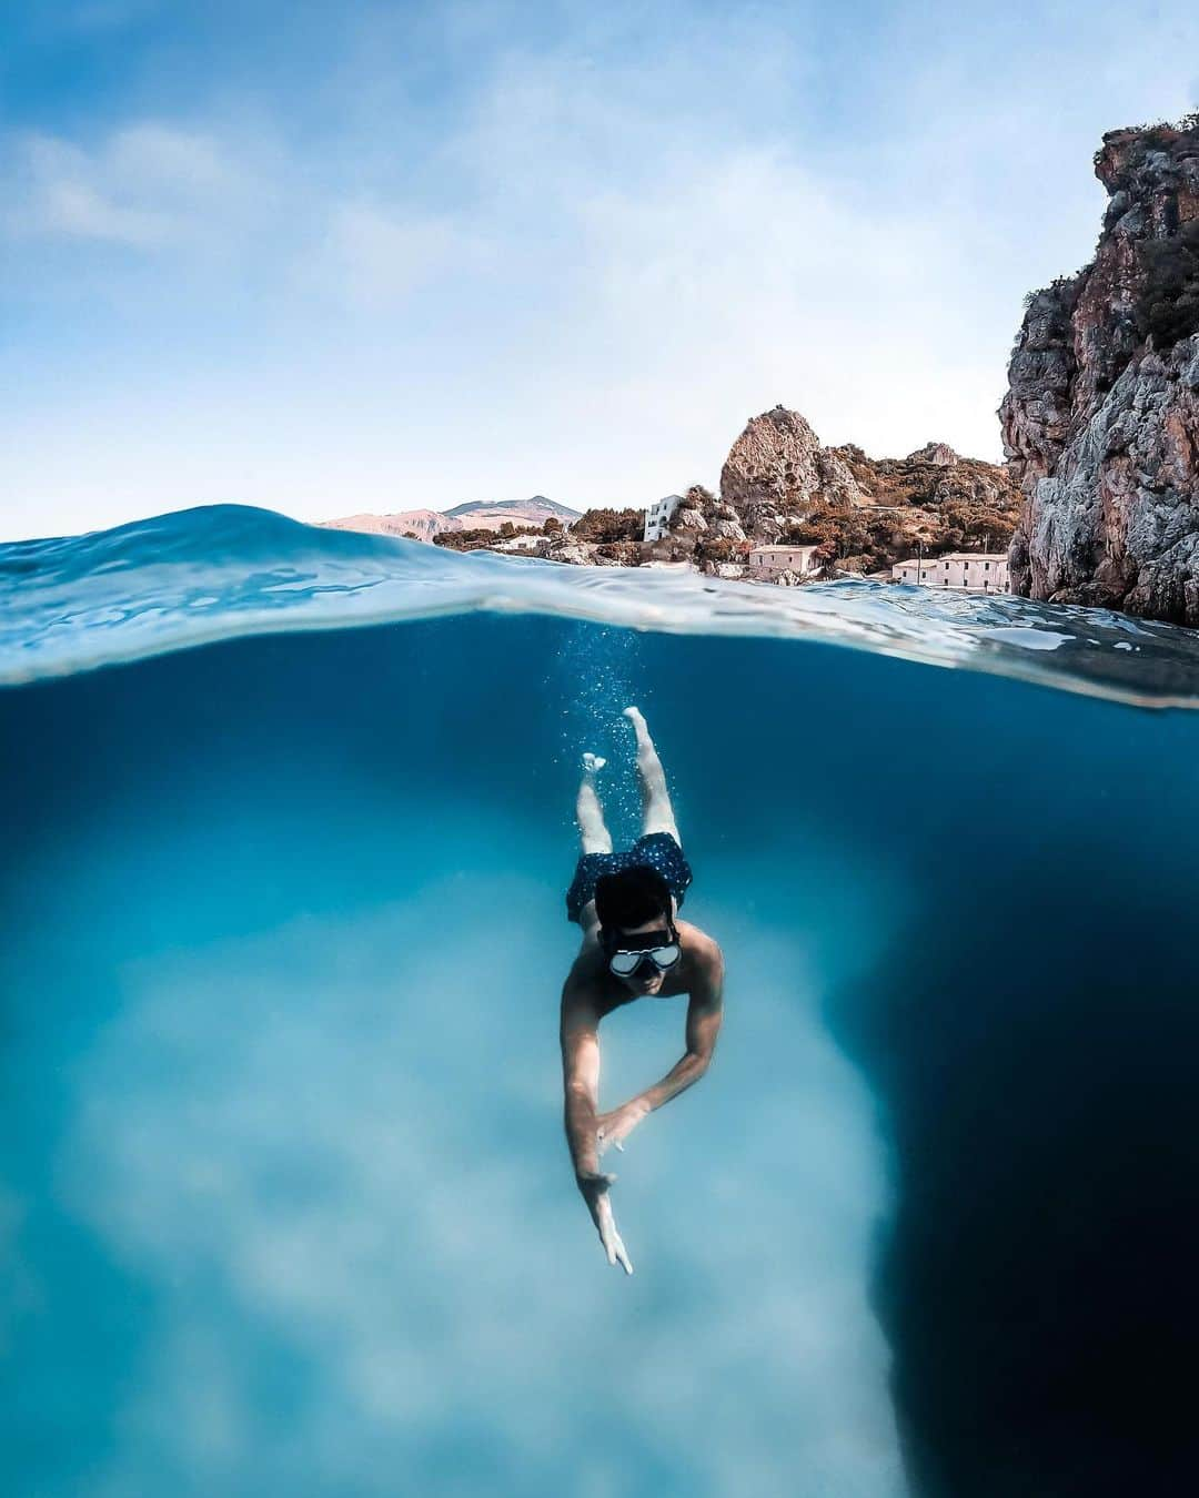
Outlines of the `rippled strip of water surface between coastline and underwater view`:
M 787 589 L 459 554 L 241 505 L 0 545 L 0 685 L 238 635 L 480 611 L 817 641 L 1145 707 L 1199 706 L 1199 634 L 1102 610 L 886 583 Z

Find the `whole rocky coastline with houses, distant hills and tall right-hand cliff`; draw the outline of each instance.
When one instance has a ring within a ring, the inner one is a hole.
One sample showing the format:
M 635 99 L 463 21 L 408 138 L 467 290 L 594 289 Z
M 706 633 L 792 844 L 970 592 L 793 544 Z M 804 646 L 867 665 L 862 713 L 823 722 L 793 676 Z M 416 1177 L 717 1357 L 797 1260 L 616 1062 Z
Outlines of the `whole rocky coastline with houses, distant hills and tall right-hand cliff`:
M 1199 115 L 1103 136 L 1094 259 L 1028 295 L 1000 407 L 1006 464 L 929 442 L 824 446 L 785 406 L 752 416 L 719 488 L 586 514 L 537 496 L 327 524 L 574 566 L 688 566 L 773 583 L 887 577 L 1009 550 L 1016 593 L 1199 626 Z M 802 547 L 803 575 L 751 566 Z

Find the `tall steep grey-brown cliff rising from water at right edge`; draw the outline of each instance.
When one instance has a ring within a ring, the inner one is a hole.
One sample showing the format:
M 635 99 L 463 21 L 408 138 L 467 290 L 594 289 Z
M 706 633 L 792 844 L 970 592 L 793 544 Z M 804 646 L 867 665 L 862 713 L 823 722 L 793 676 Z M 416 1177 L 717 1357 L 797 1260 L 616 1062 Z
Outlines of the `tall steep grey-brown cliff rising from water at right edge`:
M 1199 625 L 1199 117 L 1112 130 L 1094 261 L 1036 292 L 1000 407 L 1012 586 Z

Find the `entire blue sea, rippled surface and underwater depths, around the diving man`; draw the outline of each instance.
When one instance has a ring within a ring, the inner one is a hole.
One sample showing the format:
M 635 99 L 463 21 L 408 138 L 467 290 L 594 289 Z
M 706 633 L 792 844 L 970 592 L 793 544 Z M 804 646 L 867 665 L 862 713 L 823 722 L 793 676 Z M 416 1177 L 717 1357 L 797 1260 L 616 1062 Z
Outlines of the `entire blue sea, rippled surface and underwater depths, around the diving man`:
M 0 547 L 0 1491 L 1193 1492 L 1199 635 L 214 506 Z M 632 1278 L 558 1053 L 629 703 L 727 962 Z

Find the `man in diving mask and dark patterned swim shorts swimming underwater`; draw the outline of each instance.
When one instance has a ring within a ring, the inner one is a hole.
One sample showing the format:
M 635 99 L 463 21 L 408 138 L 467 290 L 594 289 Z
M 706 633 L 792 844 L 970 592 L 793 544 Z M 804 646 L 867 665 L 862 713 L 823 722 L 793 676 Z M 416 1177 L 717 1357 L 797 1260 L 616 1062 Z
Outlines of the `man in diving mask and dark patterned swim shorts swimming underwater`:
M 646 721 L 635 707 L 625 716 L 637 734 L 641 836 L 626 852 L 611 851 L 595 789 L 605 761 L 583 755 L 576 804 L 583 854 L 567 894 L 567 914 L 582 926 L 583 945 L 562 987 L 562 1076 L 574 1179 L 608 1263 L 631 1275 L 608 1197 L 616 1176 L 600 1170 L 600 1156 L 611 1144 L 623 1149 L 647 1113 L 707 1071 L 721 1028 L 724 959 L 698 926 L 677 918 L 691 869 Z M 686 1055 L 655 1086 L 601 1113 L 600 1020 L 634 999 L 682 993 L 688 995 Z

